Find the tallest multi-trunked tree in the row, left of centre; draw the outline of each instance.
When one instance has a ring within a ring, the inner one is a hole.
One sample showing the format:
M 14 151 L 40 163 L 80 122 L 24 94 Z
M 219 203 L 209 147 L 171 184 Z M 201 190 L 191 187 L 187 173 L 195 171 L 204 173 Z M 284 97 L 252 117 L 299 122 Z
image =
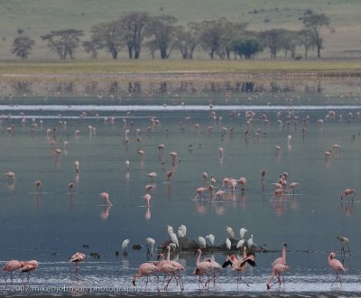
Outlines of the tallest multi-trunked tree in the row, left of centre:
M 141 45 L 145 37 L 144 28 L 149 23 L 148 13 L 133 12 L 123 15 L 120 20 L 123 39 L 128 48 L 129 59 L 139 59 Z M 133 56 L 134 52 L 134 56 Z

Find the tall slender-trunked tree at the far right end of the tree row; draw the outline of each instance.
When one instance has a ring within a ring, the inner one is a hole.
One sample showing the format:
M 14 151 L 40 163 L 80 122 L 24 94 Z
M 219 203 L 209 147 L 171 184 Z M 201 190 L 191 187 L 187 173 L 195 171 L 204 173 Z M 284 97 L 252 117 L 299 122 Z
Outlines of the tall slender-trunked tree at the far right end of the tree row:
M 329 17 L 326 14 L 310 14 L 303 17 L 303 26 L 310 30 L 312 42 L 317 49 L 317 57 L 321 58 L 320 51 L 323 49 L 323 38 L 321 36 L 322 27 L 329 28 L 331 33 L 334 29 L 329 27 Z

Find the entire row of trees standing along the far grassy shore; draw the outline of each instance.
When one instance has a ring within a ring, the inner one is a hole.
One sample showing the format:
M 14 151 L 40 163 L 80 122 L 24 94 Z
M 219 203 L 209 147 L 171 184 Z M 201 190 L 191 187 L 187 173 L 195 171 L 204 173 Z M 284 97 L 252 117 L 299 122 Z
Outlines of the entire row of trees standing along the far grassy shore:
M 208 53 L 210 59 L 252 59 L 265 49 L 273 59 L 282 51 L 286 58 L 290 55 L 297 59 L 301 58 L 296 56 L 297 47 L 302 47 L 305 58 L 309 51 L 317 51 L 320 58 L 324 41 L 321 29 L 333 31 L 329 17 L 307 10 L 301 21 L 300 31 L 280 28 L 252 32 L 247 30 L 247 23 L 230 22 L 227 17 L 179 25 L 178 19 L 169 14 L 152 16 L 146 12 L 132 12 L 115 21 L 93 25 L 88 41 L 82 41 L 84 32 L 75 29 L 51 31 L 41 38 L 61 60 L 74 59 L 79 47 L 94 59 L 99 51 L 106 51 L 117 59 L 122 49 L 127 51 L 129 59 L 139 59 L 144 50 L 153 58 L 157 51 L 161 59 L 170 58 L 172 51 L 180 51 L 183 59 L 193 59 L 198 47 Z M 35 42 L 24 36 L 22 30 L 18 33 L 12 53 L 26 60 Z

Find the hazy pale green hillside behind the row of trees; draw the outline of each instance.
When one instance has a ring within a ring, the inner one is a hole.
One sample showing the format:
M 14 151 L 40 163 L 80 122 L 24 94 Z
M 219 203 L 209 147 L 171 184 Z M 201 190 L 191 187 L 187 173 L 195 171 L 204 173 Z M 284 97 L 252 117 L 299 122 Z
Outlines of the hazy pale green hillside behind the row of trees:
M 324 58 L 361 56 L 359 0 L 0 0 L 0 60 L 15 60 L 10 49 L 18 29 L 36 42 L 30 60 L 58 60 L 40 35 L 71 28 L 83 30 L 86 39 L 92 25 L 115 20 L 131 11 L 171 14 L 180 24 L 227 16 L 233 22 L 247 22 L 249 30 L 263 31 L 301 29 L 300 18 L 306 10 L 327 14 L 336 31 L 323 33 Z M 310 52 L 310 58 L 315 56 Z M 268 57 L 268 52 L 264 52 L 264 57 Z M 88 58 L 88 54 L 79 49 L 76 58 Z M 99 58 L 110 59 L 106 53 Z M 125 51 L 120 58 L 126 59 Z M 145 51 L 142 58 L 149 58 Z M 172 54 L 171 58 L 179 56 Z M 201 51 L 195 58 L 208 59 Z

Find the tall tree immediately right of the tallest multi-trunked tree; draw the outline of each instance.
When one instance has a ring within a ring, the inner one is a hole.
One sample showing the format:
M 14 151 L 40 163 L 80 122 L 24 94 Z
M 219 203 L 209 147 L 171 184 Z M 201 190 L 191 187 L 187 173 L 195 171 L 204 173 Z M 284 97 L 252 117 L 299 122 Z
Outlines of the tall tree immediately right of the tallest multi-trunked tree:
M 177 23 L 177 18 L 162 14 L 160 16 L 152 16 L 150 18 L 149 27 L 147 33 L 151 36 L 151 40 L 148 43 L 148 47 L 157 44 L 158 50 L 161 51 L 161 58 L 168 59 L 171 55 L 171 50 L 174 47 L 174 34 Z

